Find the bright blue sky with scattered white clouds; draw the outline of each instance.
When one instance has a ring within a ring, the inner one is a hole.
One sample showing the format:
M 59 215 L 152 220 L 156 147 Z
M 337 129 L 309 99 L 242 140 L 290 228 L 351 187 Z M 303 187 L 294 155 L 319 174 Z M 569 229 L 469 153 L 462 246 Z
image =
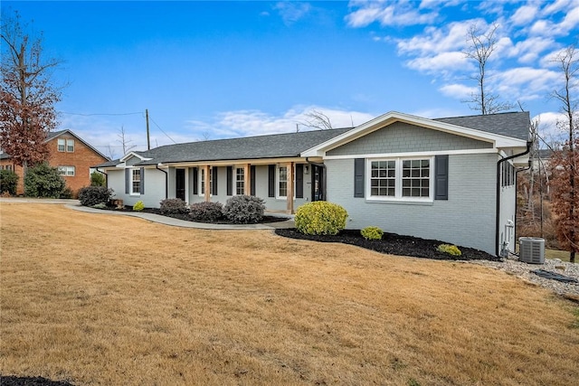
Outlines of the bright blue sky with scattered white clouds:
M 489 88 L 556 134 L 553 55 L 579 37 L 579 0 L 2 2 L 64 61 L 61 127 L 105 155 L 129 145 L 291 132 L 312 109 L 334 127 L 388 111 L 477 114 L 462 53 L 470 25 L 498 24 Z M 299 129 L 307 129 L 300 126 Z

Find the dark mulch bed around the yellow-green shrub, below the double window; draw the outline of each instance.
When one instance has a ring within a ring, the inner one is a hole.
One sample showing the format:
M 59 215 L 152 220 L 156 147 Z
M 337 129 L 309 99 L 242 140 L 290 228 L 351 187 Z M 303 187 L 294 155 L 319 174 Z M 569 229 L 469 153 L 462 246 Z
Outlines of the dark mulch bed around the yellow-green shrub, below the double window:
M 490 260 L 500 261 L 496 256 L 490 255 L 479 249 L 460 247 L 461 256 L 452 256 L 436 250 L 441 244 L 440 240 L 425 240 L 412 236 L 402 236 L 395 233 L 384 233 L 382 240 L 365 240 L 360 231 L 345 230 L 340 231 L 336 236 L 311 236 L 300 233 L 295 228 L 278 229 L 276 234 L 299 240 L 312 240 L 320 242 L 341 242 L 344 244 L 356 245 L 365 249 L 372 249 L 376 252 L 389 255 L 410 256 L 413 258 L 437 259 L 437 260 Z

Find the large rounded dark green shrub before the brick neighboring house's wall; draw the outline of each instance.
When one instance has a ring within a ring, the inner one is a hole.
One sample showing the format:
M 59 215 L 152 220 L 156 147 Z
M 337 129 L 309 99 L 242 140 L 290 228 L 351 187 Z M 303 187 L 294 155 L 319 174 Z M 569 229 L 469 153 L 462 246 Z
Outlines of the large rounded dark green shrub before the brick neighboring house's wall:
M 26 170 L 24 195 L 27 197 L 59 198 L 65 187 L 57 167 L 44 163 Z

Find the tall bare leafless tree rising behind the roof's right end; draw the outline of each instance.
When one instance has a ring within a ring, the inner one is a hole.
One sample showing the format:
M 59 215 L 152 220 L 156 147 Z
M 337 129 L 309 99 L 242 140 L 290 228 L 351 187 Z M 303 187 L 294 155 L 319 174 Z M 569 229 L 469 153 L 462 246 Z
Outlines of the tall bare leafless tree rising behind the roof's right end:
M 470 99 L 462 100 L 463 103 L 468 103 L 470 109 L 480 111 L 480 114 L 495 114 L 500 111 L 505 111 L 515 108 L 515 105 L 508 102 L 501 102 L 497 94 L 492 94 L 488 87 L 488 73 L 487 64 L 490 56 L 497 49 L 497 30 L 498 24 L 492 24 L 487 33 L 480 31 L 477 24 L 470 25 L 467 33 L 467 43 L 469 47 L 464 55 L 471 61 L 475 61 L 478 67 L 478 72 L 470 76 L 470 80 L 477 82 L 478 91 L 470 95 Z

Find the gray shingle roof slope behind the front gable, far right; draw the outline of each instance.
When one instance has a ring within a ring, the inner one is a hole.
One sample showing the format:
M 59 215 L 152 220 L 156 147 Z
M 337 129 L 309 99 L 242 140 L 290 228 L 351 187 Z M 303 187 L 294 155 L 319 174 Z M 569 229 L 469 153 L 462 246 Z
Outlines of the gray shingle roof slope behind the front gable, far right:
M 528 111 L 498 113 L 467 117 L 435 118 L 440 122 L 474 128 L 492 134 L 528 140 L 530 118 Z

